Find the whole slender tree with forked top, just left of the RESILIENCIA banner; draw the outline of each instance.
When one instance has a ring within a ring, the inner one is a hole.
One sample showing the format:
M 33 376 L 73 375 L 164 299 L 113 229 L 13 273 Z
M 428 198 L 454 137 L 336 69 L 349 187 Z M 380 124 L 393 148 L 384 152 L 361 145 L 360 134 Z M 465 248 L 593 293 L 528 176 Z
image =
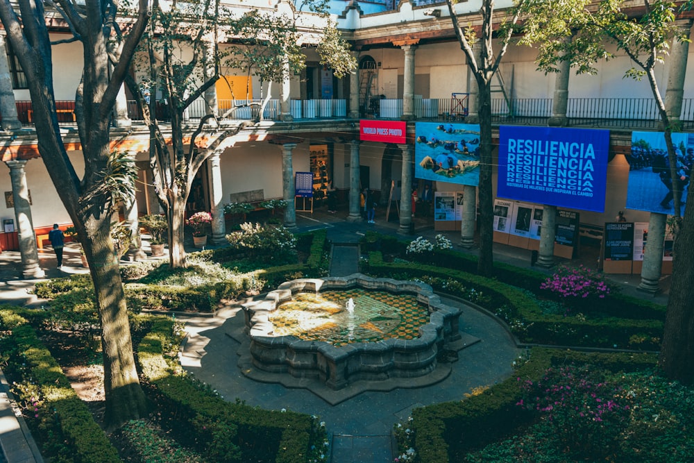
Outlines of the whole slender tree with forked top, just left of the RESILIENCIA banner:
M 454 5 L 457 0 L 446 0 L 448 12 L 453 24 L 455 36 L 460 48 L 465 53 L 468 67 L 471 69 L 477 87 L 478 107 L 480 118 L 480 259 L 477 261 L 477 271 L 484 276 L 491 276 L 493 271 L 493 191 L 491 184 L 492 151 L 491 140 L 491 83 L 499 70 L 502 58 L 506 54 L 514 28 L 521 14 L 527 10 L 527 0 L 518 0 L 510 10 L 510 17 L 502 18 L 498 27 L 493 21 L 493 0 L 482 0 L 482 24 L 477 27 L 460 25 Z M 498 50 L 495 52 L 493 38 L 498 40 Z M 473 47 L 480 47 L 480 53 L 475 53 Z

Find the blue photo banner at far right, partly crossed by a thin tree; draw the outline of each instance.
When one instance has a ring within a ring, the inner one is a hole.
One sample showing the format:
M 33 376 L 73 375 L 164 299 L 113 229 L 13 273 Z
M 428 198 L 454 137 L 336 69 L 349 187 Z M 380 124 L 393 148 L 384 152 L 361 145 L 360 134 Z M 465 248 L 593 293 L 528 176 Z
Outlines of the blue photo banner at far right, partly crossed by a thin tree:
M 662 132 L 632 133 L 632 149 L 627 154 L 628 209 L 674 214 L 675 187 L 682 192 L 682 204 L 686 203 L 689 178 L 694 163 L 694 135 L 673 133 L 672 143 L 675 145 L 677 157 L 677 179 L 674 184 L 670 174 L 665 135 Z

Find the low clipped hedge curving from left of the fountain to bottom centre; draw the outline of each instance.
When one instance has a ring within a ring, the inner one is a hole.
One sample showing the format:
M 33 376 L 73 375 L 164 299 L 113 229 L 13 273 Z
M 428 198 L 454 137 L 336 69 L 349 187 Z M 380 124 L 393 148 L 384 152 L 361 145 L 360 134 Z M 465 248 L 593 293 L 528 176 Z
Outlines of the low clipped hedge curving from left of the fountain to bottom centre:
M 162 356 L 172 321 L 152 317 L 150 332 L 138 348 L 142 374 L 158 389 L 179 422 L 187 423 L 178 433 L 187 435 L 206 449 L 211 461 L 303 463 L 311 446 L 319 448 L 324 438 L 312 416 L 296 412 L 274 412 L 229 403 L 189 378 L 174 374 Z

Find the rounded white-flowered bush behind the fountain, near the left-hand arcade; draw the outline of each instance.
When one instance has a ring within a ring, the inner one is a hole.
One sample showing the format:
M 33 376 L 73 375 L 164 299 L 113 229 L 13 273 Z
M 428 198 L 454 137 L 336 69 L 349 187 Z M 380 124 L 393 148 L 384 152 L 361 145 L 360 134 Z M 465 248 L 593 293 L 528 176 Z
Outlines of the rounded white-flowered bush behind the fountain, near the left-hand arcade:
M 241 230 L 226 235 L 226 239 L 232 248 L 265 262 L 289 260 L 296 249 L 296 237 L 283 226 L 264 227 L 246 222 L 241 224 Z

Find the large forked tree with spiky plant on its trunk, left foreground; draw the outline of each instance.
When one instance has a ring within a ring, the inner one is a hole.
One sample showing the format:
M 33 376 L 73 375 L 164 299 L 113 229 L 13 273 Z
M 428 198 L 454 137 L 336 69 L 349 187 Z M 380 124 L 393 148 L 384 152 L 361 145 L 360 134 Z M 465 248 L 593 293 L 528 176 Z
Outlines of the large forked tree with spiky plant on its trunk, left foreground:
M 155 0 L 156 3 L 156 0 Z M 83 246 L 101 319 L 106 419 L 113 424 L 146 412 L 130 339 L 126 301 L 111 237 L 112 204 L 134 194 L 133 166 L 110 153 L 109 128 L 116 95 L 148 20 L 148 1 L 139 0 L 127 31 L 117 19 L 118 1 L 0 1 L 0 19 L 26 74 L 38 149 Z M 13 9 L 17 6 L 17 11 Z M 44 9 L 49 7 L 49 11 Z M 53 92 L 53 59 L 46 15 L 60 15 L 81 44 L 82 79 L 75 115 L 85 173 L 79 178 L 58 127 Z

